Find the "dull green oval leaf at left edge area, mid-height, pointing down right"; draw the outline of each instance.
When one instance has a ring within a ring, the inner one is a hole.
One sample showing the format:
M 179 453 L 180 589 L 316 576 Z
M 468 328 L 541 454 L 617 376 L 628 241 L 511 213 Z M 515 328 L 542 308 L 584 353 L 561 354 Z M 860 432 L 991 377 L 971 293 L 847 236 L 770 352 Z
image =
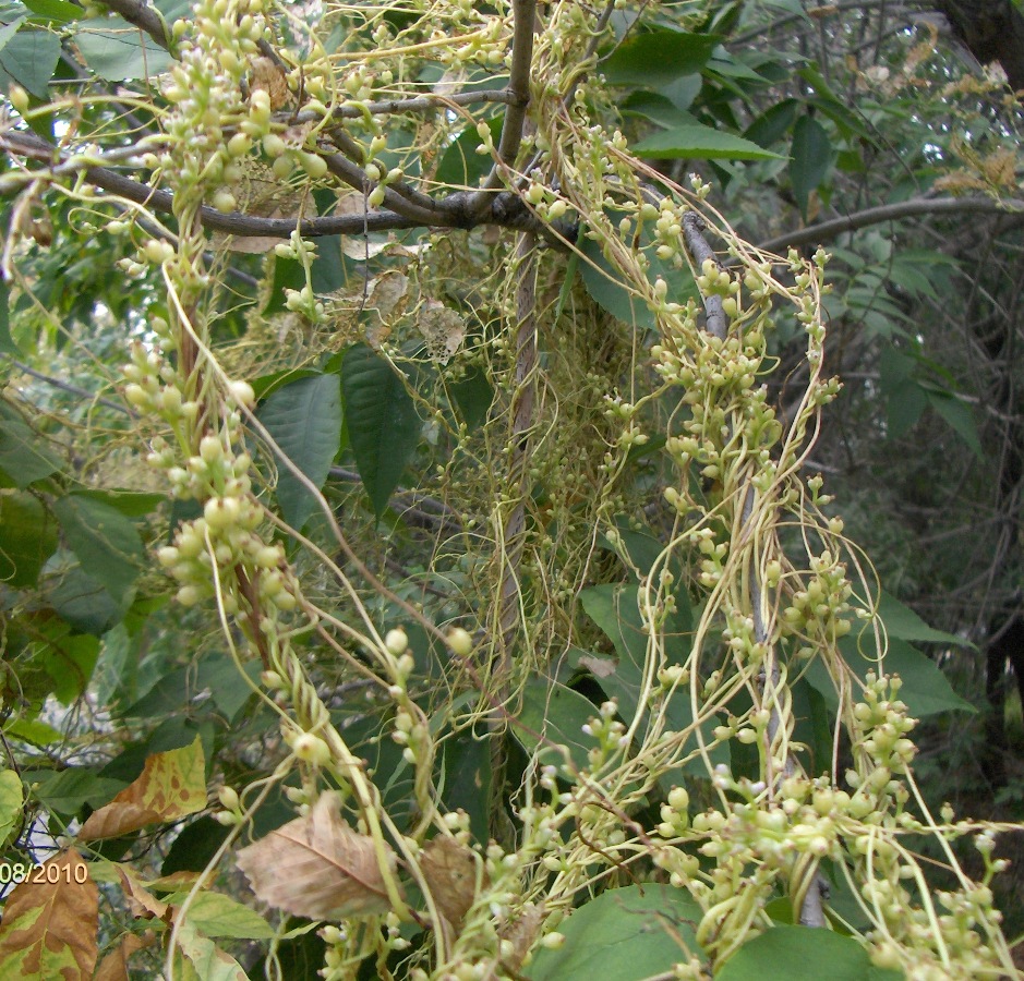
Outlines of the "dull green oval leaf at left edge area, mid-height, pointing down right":
M 58 498 L 53 513 L 64 541 L 89 578 L 127 606 L 142 567 L 142 540 L 119 510 L 77 494 Z

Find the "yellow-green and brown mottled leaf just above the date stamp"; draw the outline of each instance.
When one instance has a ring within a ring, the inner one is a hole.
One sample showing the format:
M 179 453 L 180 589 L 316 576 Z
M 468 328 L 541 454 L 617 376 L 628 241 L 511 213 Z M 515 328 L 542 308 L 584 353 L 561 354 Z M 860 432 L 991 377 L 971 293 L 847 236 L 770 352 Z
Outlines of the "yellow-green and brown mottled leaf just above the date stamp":
M 202 811 L 206 807 L 205 767 L 198 737 L 191 746 L 147 756 L 138 778 L 94 811 L 82 825 L 79 838 L 113 838 L 147 824 L 177 821 Z

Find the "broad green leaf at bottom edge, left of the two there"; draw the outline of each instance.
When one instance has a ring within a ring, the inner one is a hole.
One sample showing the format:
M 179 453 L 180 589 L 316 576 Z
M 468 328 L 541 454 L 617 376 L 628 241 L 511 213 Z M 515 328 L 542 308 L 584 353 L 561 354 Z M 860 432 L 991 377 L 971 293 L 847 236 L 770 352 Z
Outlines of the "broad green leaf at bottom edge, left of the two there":
M 607 889 L 558 924 L 565 943 L 556 950 L 539 950 L 525 976 L 531 981 L 671 977 L 679 961 L 704 959 L 695 934 L 702 916 L 688 893 L 672 886 Z

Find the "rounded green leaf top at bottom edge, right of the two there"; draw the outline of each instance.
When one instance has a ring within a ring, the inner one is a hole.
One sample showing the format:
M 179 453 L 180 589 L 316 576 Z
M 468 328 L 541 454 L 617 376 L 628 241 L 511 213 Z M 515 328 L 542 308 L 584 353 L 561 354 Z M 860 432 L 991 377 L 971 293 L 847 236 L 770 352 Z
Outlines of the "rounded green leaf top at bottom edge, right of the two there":
M 715 981 L 896 981 L 899 971 L 871 964 L 867 948 L 850 936 L 812 927 L 774 927 L 744 944 L 714 973 Z

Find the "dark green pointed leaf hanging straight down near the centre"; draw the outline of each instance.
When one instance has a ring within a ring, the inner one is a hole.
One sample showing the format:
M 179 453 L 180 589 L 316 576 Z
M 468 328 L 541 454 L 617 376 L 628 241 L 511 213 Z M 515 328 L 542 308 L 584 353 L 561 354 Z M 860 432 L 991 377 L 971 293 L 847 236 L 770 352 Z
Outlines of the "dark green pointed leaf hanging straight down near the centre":
M 356 467 L 380 518 L 415 452 L 420 417 L 401 378 L 366 344 L 345 355 L 341 388 Z

